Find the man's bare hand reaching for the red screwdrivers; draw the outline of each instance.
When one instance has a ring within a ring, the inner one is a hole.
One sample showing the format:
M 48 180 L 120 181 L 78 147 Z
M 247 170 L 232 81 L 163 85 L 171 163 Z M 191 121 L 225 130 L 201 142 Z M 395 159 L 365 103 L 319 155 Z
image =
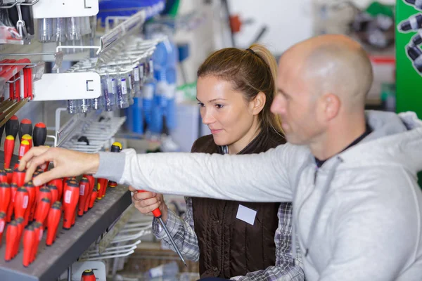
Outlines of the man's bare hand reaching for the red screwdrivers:
M 18 168 L 20 171 L 27 169 L 25 183 L 32 180 L 32 175 L 37 167 L 45 165 L 46 162 L 53 162 L 54 168 L 34 178 L 34 185 L 43 185 L 55 178 L 95 174 L 100 165 L 100 157 L 98 154 L 64 148 L 48 148 L 46 146 L 31 148 L 20 159 Z

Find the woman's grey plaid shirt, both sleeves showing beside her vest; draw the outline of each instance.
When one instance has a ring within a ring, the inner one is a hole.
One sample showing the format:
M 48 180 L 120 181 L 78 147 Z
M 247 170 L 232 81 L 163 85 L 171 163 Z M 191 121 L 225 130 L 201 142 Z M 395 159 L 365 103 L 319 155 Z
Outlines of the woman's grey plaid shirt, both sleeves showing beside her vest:
M 182 218 L 169 210 L 167 213 L 166 226 L 172 235 L 174 242 L 181 251 L 181 254 L 191 261 L 199 260 L 198 237 L 196 237 L 193 228 L 193 210 L 192 199 L 186 197 L 186 213 Z M 264 270 L 257 270 L 247 273 L 245 276 L 232 277 L 231 280 L 239 281 L 303 281 L 302 258 L 297 244 L 298 257 L 293 263 L 290 253 L 291 235 L 292 235 L 292 204 L 281 203 L 277 216 L 279 217 L 279 227 L 276 230 L 274 242 L 276 244 L 276 264 L 269 266 Z M 173 249 L 167 235 L 162 231 L 160 223 L 153 219 L 153 234 L 160 240 L 163 240 L 167 247 Z M 174 249 L 173 249 L 174 250 Z

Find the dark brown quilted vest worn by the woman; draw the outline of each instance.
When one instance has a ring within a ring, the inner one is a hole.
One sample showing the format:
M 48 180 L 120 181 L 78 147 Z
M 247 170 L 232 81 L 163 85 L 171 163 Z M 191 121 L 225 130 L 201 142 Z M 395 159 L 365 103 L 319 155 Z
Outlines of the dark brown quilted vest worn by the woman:
M 286 143 L 271 130 L 261 132 L 238 154 L 260 153 Z M 192 152 L 223 154 L 212 136 L 193 144 Z M 239 186 L 238 188 L 242 188 Z M 274 187 L 276 188 L 276 187 Z M 227 278 L 274 266 L 274 235 L 279 203 L 252 203 L 192 198 L 193 221 L 200 249 L 200 277 Z M 239 204 L 257 211 L 254 225 L 236 218 Z

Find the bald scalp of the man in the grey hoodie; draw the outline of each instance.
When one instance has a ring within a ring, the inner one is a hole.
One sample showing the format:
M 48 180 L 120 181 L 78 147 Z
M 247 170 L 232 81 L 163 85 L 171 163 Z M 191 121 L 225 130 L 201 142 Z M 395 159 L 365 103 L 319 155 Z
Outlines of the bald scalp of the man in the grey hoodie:
M 300 61 L 302 78 L 316 97 L 333 93 L 345 110 L 364 108 L 373 73 L 368 55 L 356 41 L 343 35 L 322 35 L 290 48 L 280 65 L 283 57 Z

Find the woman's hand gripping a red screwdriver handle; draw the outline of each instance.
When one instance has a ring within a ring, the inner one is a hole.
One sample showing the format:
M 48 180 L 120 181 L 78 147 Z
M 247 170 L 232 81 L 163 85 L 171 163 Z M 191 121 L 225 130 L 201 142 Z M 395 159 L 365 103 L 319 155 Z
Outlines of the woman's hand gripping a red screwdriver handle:
M 162 221 L 167 221 L 167 205 L 164 202 L 162 194 L 149 191 L 138 192 L 138 190 L 132 188 L 132 186 L 129 186 L 129 190 L 134 192 L 132 202 L 134 203 L 135 208 L 142 214 L 153 216 L 152 211 L 158 208 L 161 211 Z

